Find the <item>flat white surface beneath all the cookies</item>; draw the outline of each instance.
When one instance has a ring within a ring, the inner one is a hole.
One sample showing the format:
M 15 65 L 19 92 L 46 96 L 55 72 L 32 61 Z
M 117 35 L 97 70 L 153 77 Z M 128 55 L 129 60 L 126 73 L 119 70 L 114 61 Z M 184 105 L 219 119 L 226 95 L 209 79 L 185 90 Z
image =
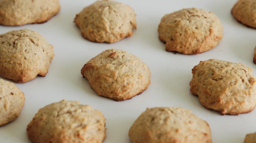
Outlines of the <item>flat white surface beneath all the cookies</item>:
M 231 15 L 236 0 L 118 0 L 130 5 L 137 14 L 137 30 L 133 36 L 116 43 L 93 43 L 84 39 L 73 19 L 83 7 L 94 0 L 61 0 L 58 15 L 46 23 L 20 27 L 0 26 L 0 33 L 30 29 L 43 35 L 54 46 L 55 57 L 46 77 L 15 84 L 25 94 L 20 116 L 0 127 L 1 143 L 27 143 L 26 126 L 39 108 L 62 99 L 80 101 L 102 111 L 106 120 L 104 143 L 130 143 L 128 131 L 134 120 L 147 107 L 184 107 L 206 120 L 212 131 L 213 143 L 242 143 L 247 133 L 256 132 L 256 110 L 247 114 L 220 115 L 208 110 L 189 91 L 191 69 L 200 60 L 210 58 L 242 62 L 253 68 L 253 48 L 256 30 L 238 23 Z M 197 7 L 215 13 L 224 27 L 224 37 L 218 46 L 198 55 L 174 54 L 165 51 L 158 39 L 160 19 L 182 8 Z M 98 96 L 88 81 L 82 78 L 82 66 L 100 52 L 118 48 L 137 55 L 151 70 L 151 84 L 141 95 L 116 102 Z

